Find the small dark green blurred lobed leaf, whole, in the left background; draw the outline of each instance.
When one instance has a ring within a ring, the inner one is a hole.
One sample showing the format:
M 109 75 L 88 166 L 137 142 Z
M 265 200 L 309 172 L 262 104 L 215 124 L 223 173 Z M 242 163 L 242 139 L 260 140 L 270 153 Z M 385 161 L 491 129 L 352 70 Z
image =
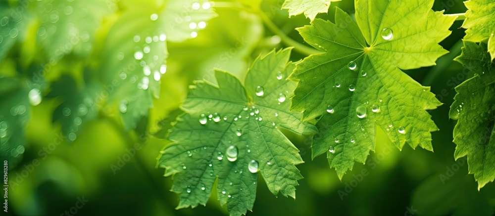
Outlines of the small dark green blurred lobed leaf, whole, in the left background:
M 95 95 L 102 92 L 98 86 L 86 84 L 79 87 L 76 81 L 67 75 L 51 84 L 51 92 L 47 97 L 62 101 L 53 112 L 53 122 L 61 124 L 62 133 L 67 141 L 73 142 L 84 125 L 97 118 L 98 103 L 101 103 L 101 98 L 95 99 Z

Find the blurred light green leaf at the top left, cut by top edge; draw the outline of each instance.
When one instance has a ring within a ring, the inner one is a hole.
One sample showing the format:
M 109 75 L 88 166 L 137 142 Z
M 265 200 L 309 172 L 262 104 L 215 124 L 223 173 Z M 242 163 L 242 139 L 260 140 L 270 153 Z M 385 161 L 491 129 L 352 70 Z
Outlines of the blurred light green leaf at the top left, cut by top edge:
M 36 6 L 41 22 L 37 41 L 51 61 L 71 52 L 87 57 L 103 16 L 111 12 L 102 0 L 45 0 Z

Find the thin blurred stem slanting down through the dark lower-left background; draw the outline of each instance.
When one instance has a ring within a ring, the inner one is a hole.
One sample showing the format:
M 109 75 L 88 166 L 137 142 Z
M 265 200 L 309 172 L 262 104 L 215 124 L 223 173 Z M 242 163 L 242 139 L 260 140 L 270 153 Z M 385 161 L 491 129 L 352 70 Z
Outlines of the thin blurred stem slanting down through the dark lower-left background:
M 107 123 L 109 123 L 110 126 L 113 128 L 113 130 L 115 130 L 119 133 L 119 135 L 125 140 L 125 143 L 126 143 L 128 148 L 134 148 L 134 144 L 135 144 L 133 141 L 134 139 L 132 138 L 131 135 L 129 135 L 128 131 L 126 131 L 121 126 L 121 124 L 119 122 L 117 122 L 114 118 L 112 118 L 106 114 L 103 114 L 101 112 L 99 113 L 99 117 L 102 120 L 105 120 Z M 139 144 L 141 144 L 141 143 L 139 143 Z M 153 185 L 154 188 L 157 188 L 157 190 L 154 190 L 156 193 L 156 196 L 159 199 L 161 199 L 163 203 L 170 203 L 170 201 L 167 200 L 167 198 L 162 193 L 163 191 L 166 191 L 165 188 L 163 187 L 162 184 L 160 184 L 158 181 L 156 181 L 156 179 L 153 177 L 154 174 L 148 170 L 148 167 L 146 166 L 145 160 L 143 159 L 143 157 L 141 157 L 141 155 L 139 154 L 138 151 L 136 151 L 134 158 L 136 159 L 136 162 L 137 162 L 140 170 L 142 170 L 145 173 L 145 176 L 148 179 L 148 181 Z

